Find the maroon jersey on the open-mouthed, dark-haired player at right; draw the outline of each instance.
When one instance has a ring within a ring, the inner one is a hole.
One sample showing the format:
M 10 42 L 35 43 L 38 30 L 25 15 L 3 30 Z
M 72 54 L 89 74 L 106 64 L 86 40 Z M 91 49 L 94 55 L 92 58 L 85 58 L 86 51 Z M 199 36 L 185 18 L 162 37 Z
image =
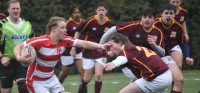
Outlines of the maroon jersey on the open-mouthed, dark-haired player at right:
M 174 46 L 181 45 L 185 42 L 183 28 L 175 20 L 172 20 L 172 23 L 167 27 L 162 22 L 162 19 L 159 18 L 154 25 L 163 32 L 166 55 L 170 54 L 170 50 Z

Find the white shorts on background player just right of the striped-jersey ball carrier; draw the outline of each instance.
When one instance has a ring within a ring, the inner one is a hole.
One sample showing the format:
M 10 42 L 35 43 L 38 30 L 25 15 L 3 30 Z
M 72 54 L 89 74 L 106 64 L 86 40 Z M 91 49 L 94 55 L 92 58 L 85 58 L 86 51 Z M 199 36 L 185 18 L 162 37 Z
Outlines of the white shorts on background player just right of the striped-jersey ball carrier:
M 78 53 L 75 55 L 75 57 L 73 56 L 61 56 L 61 63 L 64 66 L 68 66 L 74 63 L 75 59 L 81 59 L 82 58 L 82 52 Z

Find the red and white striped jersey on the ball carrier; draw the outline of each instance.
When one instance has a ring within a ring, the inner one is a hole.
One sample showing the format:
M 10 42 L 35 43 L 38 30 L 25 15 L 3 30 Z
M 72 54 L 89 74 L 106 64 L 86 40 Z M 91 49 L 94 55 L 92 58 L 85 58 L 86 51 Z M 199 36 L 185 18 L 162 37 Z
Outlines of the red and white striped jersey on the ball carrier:
M 49 35 L 34 37 L 25 42 L 32 45 L 37 53 L 34 63 L 27 71 L 27 80 L 47 80 L 54 75 L 54 68 L 67 47 L 75 46 L 78 40 L 66 36 L 57 44 L 52 44 Z

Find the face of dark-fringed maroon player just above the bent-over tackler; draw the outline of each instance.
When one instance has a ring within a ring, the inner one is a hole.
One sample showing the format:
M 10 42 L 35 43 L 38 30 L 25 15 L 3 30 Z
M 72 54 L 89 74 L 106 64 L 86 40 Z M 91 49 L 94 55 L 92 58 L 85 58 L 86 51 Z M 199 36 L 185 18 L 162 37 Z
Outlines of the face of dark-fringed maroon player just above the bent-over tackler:
M 144 28 L 151 28 L 154 22 L 154 16 L 142 16 L 141 18 L 141 23 Z

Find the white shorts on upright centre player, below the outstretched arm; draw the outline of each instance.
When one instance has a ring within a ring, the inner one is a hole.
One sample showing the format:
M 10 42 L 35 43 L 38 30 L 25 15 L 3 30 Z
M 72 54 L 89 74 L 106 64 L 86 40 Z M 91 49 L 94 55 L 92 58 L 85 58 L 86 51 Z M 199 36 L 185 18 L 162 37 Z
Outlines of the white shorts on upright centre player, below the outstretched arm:
M 105 66 L 107 59 L 105 57 L 97 58 L 97 59 L 87 59 L 83 58 L 83 69 L 90 69 L 94 67 L 94 62 L 98 62 Z

